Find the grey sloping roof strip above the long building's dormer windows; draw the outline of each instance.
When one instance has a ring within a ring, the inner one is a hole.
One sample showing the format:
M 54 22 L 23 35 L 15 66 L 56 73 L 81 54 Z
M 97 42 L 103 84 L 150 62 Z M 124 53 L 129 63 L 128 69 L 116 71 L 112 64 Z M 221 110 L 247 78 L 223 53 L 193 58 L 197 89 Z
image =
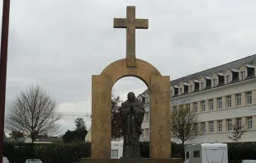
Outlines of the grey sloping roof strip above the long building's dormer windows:
M 206 69 L 206 70 L 201 71 L 201 72 L 193 73 L 193 74 L 188 75 L 186 77 L 181 77 L 181 78 L 175 79 L 175 80 L 171 81 L 171 85 L 177 86 L 178 83 L 187 82 L 190 79 L 197 80 L 200 76 L 209 77 L 212 72 L 220 72 L 221 73 L 221 72 L 224 72 L 225 69 L 228 69 L 228 68 L 238 69 L 239 65 L 241 65 L 241 64 L 245 64 L 246 66 L 252 65 L 252 64 L 254 64 L 255 60 L 256 60 L 256 54 L 250 55 L 248 57 L 241 58 L 239 60 L 235 60 L 235 61 L 230 62 L 230 63 L 222 64 L 222 65 L 217 66 L 215 68 L 209 68 L 209 69 Z

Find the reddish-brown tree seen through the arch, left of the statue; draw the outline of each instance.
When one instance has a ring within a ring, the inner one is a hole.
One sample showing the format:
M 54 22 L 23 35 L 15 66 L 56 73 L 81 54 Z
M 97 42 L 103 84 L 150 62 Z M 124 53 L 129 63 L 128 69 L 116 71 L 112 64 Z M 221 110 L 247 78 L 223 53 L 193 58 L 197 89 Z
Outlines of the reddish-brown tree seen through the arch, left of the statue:
M 114 91 L 111 92 L 111 138 L 116 139 L 122 136 L 121 134 L 121 116 L 120 116 L 120 96 Z

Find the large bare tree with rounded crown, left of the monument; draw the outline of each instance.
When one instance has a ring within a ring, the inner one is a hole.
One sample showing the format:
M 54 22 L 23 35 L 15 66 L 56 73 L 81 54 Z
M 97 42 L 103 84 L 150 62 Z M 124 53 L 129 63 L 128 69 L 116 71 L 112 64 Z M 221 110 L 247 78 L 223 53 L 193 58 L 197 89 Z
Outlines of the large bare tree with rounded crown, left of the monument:
M 30 86 L 12 101 L 6 128 L 21 131 L 34 143 L 38 135 L 59 133 L 59 119 L 55 100 L 42 87 Z

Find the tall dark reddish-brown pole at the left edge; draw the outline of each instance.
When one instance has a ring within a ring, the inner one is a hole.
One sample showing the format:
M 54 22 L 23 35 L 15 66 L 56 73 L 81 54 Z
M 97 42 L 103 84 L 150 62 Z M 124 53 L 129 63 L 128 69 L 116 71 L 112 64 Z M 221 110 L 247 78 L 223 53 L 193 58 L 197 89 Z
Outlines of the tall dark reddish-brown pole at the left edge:
M 0 58 L 0 163 L 3 156 L 4 112 L 7 83 L 7 51 L 9 33 L 10 0 L 2 2 L 2 38 Z

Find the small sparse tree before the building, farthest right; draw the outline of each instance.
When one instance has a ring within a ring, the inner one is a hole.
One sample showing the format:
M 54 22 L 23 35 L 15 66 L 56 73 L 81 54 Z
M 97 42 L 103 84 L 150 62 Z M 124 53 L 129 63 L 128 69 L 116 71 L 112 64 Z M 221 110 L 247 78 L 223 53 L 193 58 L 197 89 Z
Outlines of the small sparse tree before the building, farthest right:
M 231 128 L 233 129 L 233 134 L 232 136 L 229 136 L 229 138 L 234 142 L 239 142 L 239 139 L 241 139 L 242 135 L 247 132 L 244 128 L 244 125 L 242 126 L 238 119 L 236 119 L 235 123 L 231 125 Z

